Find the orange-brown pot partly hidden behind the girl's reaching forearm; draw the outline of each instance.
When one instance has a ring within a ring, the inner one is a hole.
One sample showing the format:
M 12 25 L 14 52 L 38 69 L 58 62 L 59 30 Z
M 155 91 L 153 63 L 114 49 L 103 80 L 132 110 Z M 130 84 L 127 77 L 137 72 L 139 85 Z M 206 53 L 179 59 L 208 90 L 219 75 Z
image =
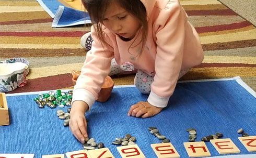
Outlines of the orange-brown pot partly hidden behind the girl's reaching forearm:
M 80 71 L 72 71 L 72 82 L 75 85 L 78 76 L 80 75 Z M 105 78 L 103 85 L 101 86 L 100 92 L 98 93 L 97 101 L 105 102 L 109 99 L 112 89 L 114 87 L 114 82 L 110 76 Z

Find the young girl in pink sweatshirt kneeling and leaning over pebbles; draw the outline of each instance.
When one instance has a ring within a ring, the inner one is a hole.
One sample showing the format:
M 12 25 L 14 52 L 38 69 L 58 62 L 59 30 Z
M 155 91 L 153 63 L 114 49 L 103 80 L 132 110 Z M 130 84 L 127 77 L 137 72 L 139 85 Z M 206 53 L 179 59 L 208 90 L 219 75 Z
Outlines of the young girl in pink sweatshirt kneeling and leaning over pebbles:
M 82 143 L 88 137 L 85 112 L 108 74 L 137 69 L 134 83 L 149 96 L 132 105 L 127 115 L 146 118 L 167 106 L 177 80 L 204 58 L 199 36 L 178 0 L 83 0 L 83 4 L 94 25 L 91 36 L 82 39 L 91 49 L 74 87 L 69 122 Z

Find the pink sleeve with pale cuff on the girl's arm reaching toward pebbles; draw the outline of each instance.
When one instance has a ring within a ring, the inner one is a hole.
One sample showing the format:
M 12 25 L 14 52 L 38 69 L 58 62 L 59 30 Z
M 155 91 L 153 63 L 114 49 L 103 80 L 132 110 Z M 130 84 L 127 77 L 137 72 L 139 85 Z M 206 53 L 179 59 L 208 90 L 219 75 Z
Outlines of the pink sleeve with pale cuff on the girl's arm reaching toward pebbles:
M 97 99 L 104 78 L 109 74 L 111 60 L 114 58 L 113 48 L 111 43 L 108 43 L 110 40 L 107 35 L 105 37 L 108 44 L 105 47 L 102 47 L 94 26 L 91 27 L 91 36 L 94 42 L 92 42 L 91 50 L 86 54 L 81 74 L 74 86 L 72 99 L 72 102 L 75 100 L 85 101 L 89 108 Z

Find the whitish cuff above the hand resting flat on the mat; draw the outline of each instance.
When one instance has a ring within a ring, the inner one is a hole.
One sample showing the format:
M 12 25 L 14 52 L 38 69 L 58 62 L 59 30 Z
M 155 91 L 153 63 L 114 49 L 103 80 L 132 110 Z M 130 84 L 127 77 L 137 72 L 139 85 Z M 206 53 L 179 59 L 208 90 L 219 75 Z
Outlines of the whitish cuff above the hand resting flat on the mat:
M 147 101 L 155 107 L 165 108 L 167 107 L 168 101 L 170 97 L 159 97 L 152 90 L 147 98 Z

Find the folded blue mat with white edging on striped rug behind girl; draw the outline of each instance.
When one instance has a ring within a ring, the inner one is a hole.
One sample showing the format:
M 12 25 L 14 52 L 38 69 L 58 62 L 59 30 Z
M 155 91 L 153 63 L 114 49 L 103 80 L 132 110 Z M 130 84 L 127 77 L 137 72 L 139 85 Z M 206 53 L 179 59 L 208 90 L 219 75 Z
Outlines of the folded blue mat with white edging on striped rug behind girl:
M 89 14 L 84 11 L 68 8 L 57 0 L 36 0 L 53 18 L 52 28 L 71 27 L 91 23 Z

